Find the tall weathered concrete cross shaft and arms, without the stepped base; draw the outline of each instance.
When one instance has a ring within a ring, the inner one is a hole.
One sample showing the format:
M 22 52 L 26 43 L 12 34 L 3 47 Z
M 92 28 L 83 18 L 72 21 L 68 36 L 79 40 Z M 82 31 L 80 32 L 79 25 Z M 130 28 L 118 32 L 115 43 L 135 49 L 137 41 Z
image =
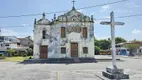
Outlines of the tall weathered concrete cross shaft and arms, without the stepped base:
M 116 48 L 115 48 L 115 25 L 124 25 L 123 22 L 115 22 L 114 21 L 114 12 L 110 13 L 110 22 L 102 21 L 100 24 L 102 25 L 110 25 L 111 26 L 111 49 L 112 49 L 112 66 L 116 68 Z

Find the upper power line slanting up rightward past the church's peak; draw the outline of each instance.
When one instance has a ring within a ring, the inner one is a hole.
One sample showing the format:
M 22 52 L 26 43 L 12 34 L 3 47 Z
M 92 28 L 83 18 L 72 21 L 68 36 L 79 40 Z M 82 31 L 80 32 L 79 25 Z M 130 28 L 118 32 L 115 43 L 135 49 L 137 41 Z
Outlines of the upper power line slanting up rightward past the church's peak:
M 129 1 L 129 0 L 120 0 L 120 1 L 114 1 L 114 2 L 109 2 L 109 3 L 99 4 L 99 5 L 95 5 L 95 6 L 88 6 L 88 7 L 79 8 L 77 10 L 89 9 L 89 8 L 94 8 L 94 7 L 104 6 L 104 5 L 110 5 L 110 4 L 116 4 L 116 3 L 120 3 L 120 2 L 124 2 L 124 1 Z M 69 11 L 69 10 L 55 11 L 55 12 L 49 12 L 49 13 L 45 13 L 45 14 L 56 14 L 56 13 L 62 13 L 62 12 L 67 12 L 67 11 Z M 41 15 L 41 14 L 26 14 L 26 15 L 18 15 L 18 16 L 1 16 L 0 18 L 28 17 L 28 16 L 38 16 L 38 15 Z

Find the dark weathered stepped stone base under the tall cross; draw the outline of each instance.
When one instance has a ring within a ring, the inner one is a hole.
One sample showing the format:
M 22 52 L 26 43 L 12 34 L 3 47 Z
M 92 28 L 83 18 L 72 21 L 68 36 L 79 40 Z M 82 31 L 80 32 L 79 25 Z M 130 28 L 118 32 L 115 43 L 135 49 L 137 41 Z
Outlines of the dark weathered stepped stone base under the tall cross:
M 103 71 L 102 74 L 109 79 L 129 79 L 129 75 L 124 74 L 123 69 L 106 68 L 106 71 Z

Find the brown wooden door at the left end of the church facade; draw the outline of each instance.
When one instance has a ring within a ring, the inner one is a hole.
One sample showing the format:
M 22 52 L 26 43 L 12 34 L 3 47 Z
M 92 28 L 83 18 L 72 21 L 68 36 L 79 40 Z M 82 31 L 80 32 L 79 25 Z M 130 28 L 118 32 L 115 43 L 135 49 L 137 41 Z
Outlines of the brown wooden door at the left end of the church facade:
M 47 59 L 48 46 L 40 46 L 40 59 Z

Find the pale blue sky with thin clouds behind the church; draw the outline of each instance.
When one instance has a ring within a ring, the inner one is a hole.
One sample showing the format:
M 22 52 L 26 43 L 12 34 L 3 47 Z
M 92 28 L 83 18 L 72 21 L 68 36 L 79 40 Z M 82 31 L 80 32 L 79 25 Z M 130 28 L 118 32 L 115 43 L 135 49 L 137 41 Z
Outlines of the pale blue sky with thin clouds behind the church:
M 87 6 L 94 6 L 120 0 L 76 0 L 75 8 L 82 8 Z M 71 10 L 71 0 L 1 0 L 0 1 L 0 17 L 4 16 L 18 16 L 26 14 L 42 14 Z M 128 16 L 133 14 L 142 13 L 142 0 L 128 0 L 125 2 L 94 7 L 90 9 L 81 9 L 81 13 L 95 18 L 94 35 L 97 39 L 107 39 L 110 37 L 110 26 L 101 25 L 100 20 L 109 18 L 110 12 L 114 11 L 115 17 Z M 64 13 L 57 13 L 59 16 Z M 51 20 L 54 14 L 47 14 L 46 18 Z M 33 36 L 33 23 L 34 19 L 40 19 L 39 16 L 28 17 L 11 17 L 0 18 L 1 35 L 4 36 L 17 36 L 26 37 Z M 123 37 L 130 40 L 142 40 L 142 16 L 128 17 L 128 18 L 115 18 L 115 21 L 124 22 L 124 26 L 115 26 L 116 37 Z M 16 27 L 17 26 L 17 27 Z M 23 27 L 18 27 L 23 26 Z

